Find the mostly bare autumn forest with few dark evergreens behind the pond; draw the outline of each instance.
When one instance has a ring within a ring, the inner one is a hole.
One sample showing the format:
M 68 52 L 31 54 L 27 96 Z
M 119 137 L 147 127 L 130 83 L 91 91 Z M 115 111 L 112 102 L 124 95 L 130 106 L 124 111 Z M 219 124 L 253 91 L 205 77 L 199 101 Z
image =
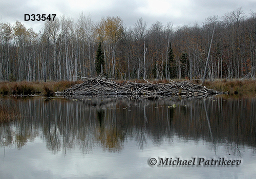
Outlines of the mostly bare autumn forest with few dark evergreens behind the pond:
M 255 78 L 256 13 L 238 8 L 178 27 L 148 27 L 143 18 L 125 27 L 119 16 L 94 22 L 83 13 L 56 16 L 39 32 L 19 21 L 0 23 L 0 81 L 193 80 L 204 73 L 208 80 Z

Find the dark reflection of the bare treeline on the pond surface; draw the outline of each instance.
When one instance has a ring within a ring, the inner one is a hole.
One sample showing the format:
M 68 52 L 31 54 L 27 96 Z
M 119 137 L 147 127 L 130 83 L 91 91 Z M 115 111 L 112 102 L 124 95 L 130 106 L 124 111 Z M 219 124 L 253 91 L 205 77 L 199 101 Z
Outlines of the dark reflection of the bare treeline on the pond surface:
M 256 146 L 255 98 L 47 101 L 35 97 L 3 99 L 1 104 L 15 106 L 24 115 L 19 121 L 0 124 L 1 147 L 20 149 L 38 137 L 53 153 L 77 147 L 82 153 L 95 147 L 119 152 L 128 140 L 143 149 L 148 141 L 161 145 L 174 138 L 208 142 L 212 150 L 225 145 L 234 154 L 241 146 Z

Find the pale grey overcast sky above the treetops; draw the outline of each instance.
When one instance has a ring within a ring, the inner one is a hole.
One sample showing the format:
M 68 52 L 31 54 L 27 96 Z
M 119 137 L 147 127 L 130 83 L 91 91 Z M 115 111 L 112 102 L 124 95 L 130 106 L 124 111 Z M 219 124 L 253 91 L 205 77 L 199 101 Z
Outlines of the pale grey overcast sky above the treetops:
M 245 15 L 256 12 L 256 0 L 0 0 L 0 21 L 14 24 L 16 20 L 38 32 L 42 21 L 25 21 L 24 14 L 57 14 L 77 20 L 79 14 L 91 15 L 93 21 L 101 17 L 120 16 L 126 27 L 133 27 L 143 18 L 150 27 L 155 21 L 163 25 L 172 21 L 174 27 L 199 25 L 209 16 L 224 16 L 242 7 Z

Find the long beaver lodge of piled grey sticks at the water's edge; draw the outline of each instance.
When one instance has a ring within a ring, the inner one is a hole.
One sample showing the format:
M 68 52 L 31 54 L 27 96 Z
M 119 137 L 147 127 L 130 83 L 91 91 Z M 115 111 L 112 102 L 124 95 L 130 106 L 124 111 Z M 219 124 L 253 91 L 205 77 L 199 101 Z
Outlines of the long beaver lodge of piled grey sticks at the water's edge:
M 145 80 L 146 81 L 146 80 Z M 81 84 L 76 84 L 63 92 L 57 92 L 57 95 L 67 97 L 75 96 L 132 96 L 147 99 L 158 99 L 159 97 L 193 97 L 216 95 L 219 92 L 214 89 L 207 89 L 201 85 L 193 84 L 189 81 L 173 81 L 170 83 L 152 84 L 136 82 L 117 83 L 105 78 L 88 78 Z

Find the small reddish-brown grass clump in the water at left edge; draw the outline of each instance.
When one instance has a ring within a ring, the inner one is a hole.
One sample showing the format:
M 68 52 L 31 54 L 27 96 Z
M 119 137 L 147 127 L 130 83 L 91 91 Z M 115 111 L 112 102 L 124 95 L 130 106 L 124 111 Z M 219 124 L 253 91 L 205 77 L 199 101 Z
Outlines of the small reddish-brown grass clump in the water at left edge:
M 18 112 L 18 110 L 5 105 L 0 105 L 0 123 L 15 121 L 21 117 L 22 115 Z

